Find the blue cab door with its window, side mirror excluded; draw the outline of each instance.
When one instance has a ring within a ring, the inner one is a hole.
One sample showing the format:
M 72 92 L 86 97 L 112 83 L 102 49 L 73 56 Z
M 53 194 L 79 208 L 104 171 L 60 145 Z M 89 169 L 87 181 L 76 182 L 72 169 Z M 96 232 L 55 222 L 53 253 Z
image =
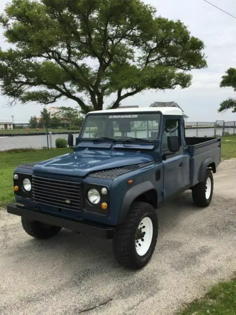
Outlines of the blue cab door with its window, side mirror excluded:
M 163 162 L 163 197 L 168 198 L 184 188 L 184 144 L 182 135 L 182 117 L 166 116 L 162 130 L 162 162 Z M 180 141 L 179 151 L 172 154 L 168 149 L 167 137 L 178 136 Z

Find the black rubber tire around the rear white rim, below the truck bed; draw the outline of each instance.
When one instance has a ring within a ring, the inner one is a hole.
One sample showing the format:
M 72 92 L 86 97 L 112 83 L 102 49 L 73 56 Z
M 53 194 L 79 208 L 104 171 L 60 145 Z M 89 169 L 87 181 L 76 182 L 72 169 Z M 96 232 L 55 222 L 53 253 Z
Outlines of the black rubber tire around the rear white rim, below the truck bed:
M 206 197 L 206 185 L 207 185 L 207 179 L 210 179 L 211 182 L 211 191 L 210 195 L 207 198 Z M 212 194 L 213 194 L 213 175 L 210 170 L 207 169 L 206 171 L 206 176 L 203 182 L 198 183 L 192 188 L 192 198 L 193 202 L 196 206 L 205 208 L 207 207 L 212 199 Z

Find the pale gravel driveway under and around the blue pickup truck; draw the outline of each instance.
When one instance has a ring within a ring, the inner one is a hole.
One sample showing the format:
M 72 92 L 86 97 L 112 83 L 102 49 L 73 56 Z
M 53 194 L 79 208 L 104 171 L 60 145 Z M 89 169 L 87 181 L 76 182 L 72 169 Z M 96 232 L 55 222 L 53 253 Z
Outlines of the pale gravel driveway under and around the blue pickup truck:
M 118 265 L 112 243 L 62 230 L 38 241 L 0 212 L 1 315 L 172 315 L 236 271 L 236 160 L 214 176 L 207 209 L 190 192 L 159 212 L 159 238 L 141 271 Z

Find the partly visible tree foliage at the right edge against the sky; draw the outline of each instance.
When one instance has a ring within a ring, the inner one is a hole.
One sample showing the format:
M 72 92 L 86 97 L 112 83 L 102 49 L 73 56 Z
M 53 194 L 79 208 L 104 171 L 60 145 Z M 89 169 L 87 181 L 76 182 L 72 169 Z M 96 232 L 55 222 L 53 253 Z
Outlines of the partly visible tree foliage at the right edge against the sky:
M 232 87 L 236 92 L 236 68 L 229 68 L 226 74 L 222 76 L 220 83 L 221 88 Z M 218 113 L 224 112 L 228 109 L 232 109 L 233 113 L 236 113 L 236 99 L 228 98 L 220 103 Z

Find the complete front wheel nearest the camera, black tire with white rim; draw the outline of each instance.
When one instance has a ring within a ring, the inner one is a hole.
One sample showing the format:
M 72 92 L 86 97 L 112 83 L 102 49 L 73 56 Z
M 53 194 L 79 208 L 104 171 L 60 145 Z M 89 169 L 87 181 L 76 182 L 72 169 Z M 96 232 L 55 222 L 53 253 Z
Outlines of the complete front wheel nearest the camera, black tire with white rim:
M 116 259 L 124 267 L 143 268 L 154 252 L 157 235 L 154 208 L 145 202 L 135 202 L 127 219 L 115 231 L 113 251 Z

